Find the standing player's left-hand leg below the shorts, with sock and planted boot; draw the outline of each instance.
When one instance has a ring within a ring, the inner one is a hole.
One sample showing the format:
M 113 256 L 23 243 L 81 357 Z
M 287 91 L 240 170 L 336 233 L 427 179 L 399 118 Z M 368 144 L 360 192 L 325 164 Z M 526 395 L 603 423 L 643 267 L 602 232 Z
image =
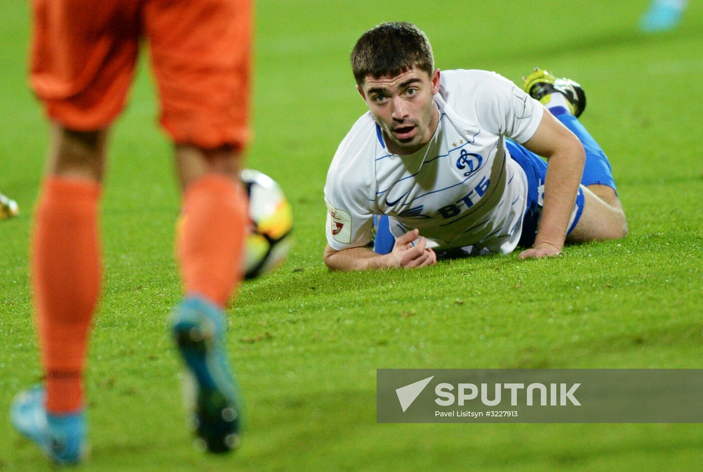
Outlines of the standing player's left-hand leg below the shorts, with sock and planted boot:
M 56 127 L 34 218 L 32 287 L 46 386 L 20 395 L 12 417 L 58 462 L 78 461 L 84 449 L 82 374 L 101 282 L 97 213 L 104 142 L 104 132 Z

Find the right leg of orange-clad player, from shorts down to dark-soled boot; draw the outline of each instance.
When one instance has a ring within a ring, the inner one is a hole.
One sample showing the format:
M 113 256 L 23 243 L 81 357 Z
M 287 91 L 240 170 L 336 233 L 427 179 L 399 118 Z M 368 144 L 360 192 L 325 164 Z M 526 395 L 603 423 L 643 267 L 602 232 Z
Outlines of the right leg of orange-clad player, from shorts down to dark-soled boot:
M 195 431 L 211 452 L 238 444 L 240 400 L 223 308 L 240 280 L 247 204 L 238 184 L 247 140 L 250 4 L 151 1 L 144 11 L 161 124 L 176 143 L 183 211 L 176 246 L 186 297 L 173 315 L 193 380 Z

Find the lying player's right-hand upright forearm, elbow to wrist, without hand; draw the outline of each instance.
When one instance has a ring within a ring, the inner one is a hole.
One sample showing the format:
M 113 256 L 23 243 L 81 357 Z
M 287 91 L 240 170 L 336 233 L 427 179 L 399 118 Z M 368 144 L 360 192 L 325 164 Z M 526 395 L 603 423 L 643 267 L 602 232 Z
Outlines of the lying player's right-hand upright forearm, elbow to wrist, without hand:
M 560 251 L 564 246 L 585 159 L 583 147 L 580 145 L 572 147 L 569 152 L 550 157 L 544 183 L 542 217 L 535 246 L 546 243 Z

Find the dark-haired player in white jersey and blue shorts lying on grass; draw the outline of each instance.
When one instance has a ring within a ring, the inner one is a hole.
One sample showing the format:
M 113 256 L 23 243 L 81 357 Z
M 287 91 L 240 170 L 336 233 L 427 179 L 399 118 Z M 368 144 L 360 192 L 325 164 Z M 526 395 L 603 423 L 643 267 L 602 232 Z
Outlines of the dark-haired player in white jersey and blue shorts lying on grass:
M 540 258 L 565 240 L 626 235 L 610 163 L 576 119 L 579 84 L 536 69 L 522 91 L 494 72 L 440 72 L 409 23 L 364 33 L 352 70 L 369 112 L 328 171 L 329 268 L 423 267 L 518 245 Z

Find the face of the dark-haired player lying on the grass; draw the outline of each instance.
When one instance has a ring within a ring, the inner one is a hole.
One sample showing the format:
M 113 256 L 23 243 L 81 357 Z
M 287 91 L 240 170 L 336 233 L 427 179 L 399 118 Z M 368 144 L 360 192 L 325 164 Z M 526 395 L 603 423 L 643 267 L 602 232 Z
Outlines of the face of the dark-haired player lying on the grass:
M 395 77 L 369 75 L 358 89 L 390 152 L 412 154 L 430 142 L 439 121 L 433 98 L 439 92 L 439 69 L 432 76 L 417 67 Z

